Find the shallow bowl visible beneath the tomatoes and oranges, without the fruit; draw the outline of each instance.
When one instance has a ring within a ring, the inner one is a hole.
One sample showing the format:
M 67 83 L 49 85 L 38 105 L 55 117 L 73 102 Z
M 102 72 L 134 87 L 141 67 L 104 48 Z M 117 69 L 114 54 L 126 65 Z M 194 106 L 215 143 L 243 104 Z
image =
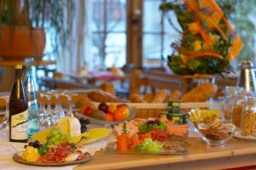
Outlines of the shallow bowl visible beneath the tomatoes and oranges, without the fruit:
M 90 120 L 90 123 L 94 123 L 94 124 L 99 124 L 99 125 L 116 125 L 116 124 L 119 124 L 119 123 L 122 123 L 122 122 L 126 122 L 126 121 L 130 121 L 131 119 L 133 119 L 136 114 L 137 114 L 137 111 L 136 111 L 136 108 L 129 108 L 130 110 L 130 116 L 128 116 L 125 120 L 122 120 L 122 121 L 111 121 L 111 122 L 108 122 L 108 121 L 104 121 L 104 120 L 101 120 L 101 119 L 96 119 L 96 118 L 93 118 L 93 117 L 90 117 L 90 116 L 86 116 L 80 112 L 75 112 L 75 116 L 81 118 L 81 117 L 84 117 L 85 119 L 89 119 Z

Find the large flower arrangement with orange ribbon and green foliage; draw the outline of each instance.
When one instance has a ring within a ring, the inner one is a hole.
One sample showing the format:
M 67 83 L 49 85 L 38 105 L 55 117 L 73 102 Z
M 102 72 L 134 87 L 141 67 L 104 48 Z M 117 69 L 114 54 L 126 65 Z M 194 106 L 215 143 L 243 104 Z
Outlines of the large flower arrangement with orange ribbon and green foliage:
M 164 12 L 173 11 L 181 29 L 169 18 L 180 34 L 172 42 L 175 52 L 168 56 L 168 65 L 178 75 L 230 73 L 230 61 L 242 48 L 240 37 L 230 25 L 229 9 L 215 0 L 183 0 L 162 3 Z M 168 16 L 168 15 L 166 15 Z

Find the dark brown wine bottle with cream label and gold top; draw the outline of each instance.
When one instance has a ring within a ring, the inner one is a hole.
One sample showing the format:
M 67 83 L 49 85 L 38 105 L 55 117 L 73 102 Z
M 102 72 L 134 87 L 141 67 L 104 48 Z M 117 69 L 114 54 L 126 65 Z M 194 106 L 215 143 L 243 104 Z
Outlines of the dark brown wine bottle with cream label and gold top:
M 15 65 L 15 82 L 9 97 L 9 141 L 27 142 L 27 100 L 22 65 Z

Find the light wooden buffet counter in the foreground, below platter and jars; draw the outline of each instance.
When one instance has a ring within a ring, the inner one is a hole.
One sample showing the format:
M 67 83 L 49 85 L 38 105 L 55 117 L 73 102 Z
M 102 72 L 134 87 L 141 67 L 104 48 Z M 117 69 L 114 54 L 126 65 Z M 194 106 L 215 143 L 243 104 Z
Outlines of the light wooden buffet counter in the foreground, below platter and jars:
M 190 138 L 185 156 L 106 154 L 100 151 L 92 161 L 75 170 L 94 169 L 224 169 L 256 165 L 256 143 L 233 139 L 225 147 L 207 147 L 201 139 Z

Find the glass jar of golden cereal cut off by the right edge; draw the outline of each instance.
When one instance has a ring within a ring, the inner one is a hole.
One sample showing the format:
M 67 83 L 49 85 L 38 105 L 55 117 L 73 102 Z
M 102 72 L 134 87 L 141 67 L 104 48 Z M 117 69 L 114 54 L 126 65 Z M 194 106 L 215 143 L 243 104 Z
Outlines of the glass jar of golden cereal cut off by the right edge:
M 256 137 L 256 97 L 247 100 L 241 115 L 241 135 L 253 135 Z

